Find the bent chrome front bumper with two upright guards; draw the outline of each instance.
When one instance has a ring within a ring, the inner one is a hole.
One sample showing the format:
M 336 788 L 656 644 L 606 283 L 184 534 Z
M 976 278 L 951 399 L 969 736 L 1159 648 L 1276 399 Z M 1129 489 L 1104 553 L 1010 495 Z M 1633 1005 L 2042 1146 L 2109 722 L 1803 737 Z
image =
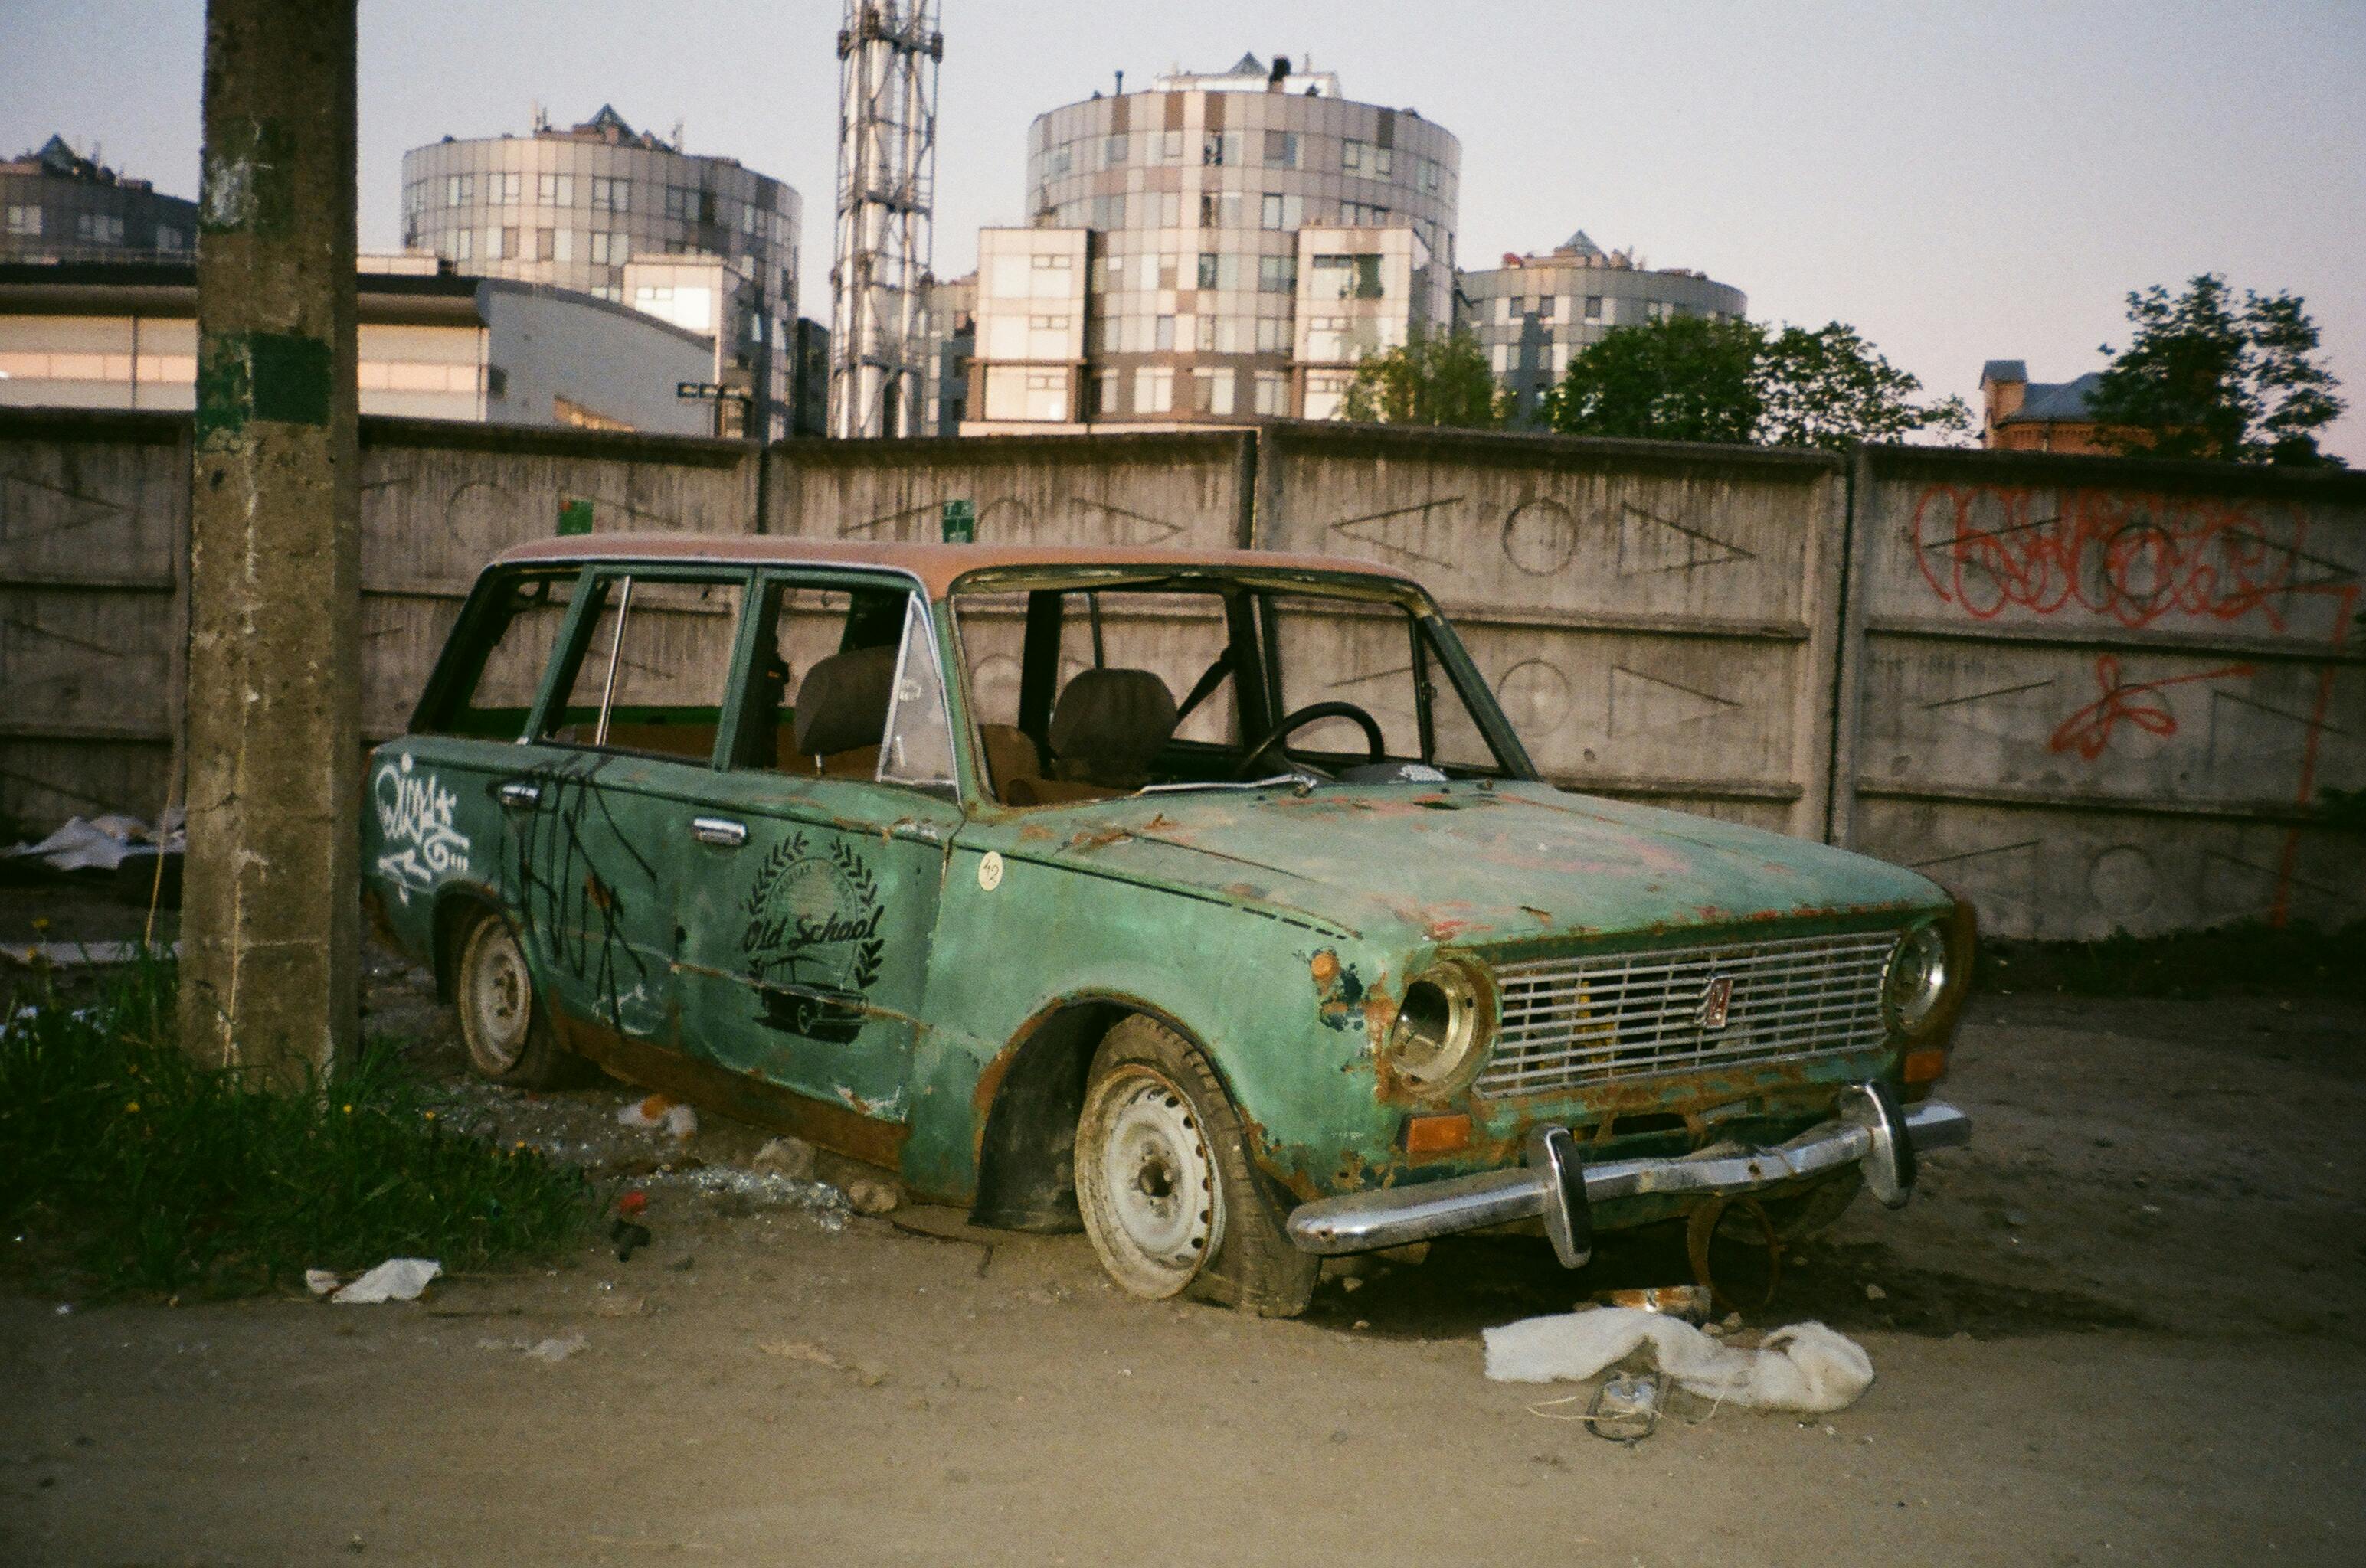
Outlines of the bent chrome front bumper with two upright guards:
M 1730 1197 L 1857 1166 L 1876 1199 L 1902 1209 L 1914 1192 L 1919 1149 L 1954 1149 L 1971 1142 L 1971 1119 L 1964 1112 L 1935 1100 L 1902 1112 L 1886 1083 L 1855 1083 L 1841 1090 L 1836 1109 L 1838 1116 L 1831 1121 L 1772 1149 L 1611 1159 L 1599 1166 L 1578 1159 L 1578 1140 L 1569 1128 L 1536 1128 L 1528 1133 L 1526 1164 L 1517 1171 L 1483 1171 L 1299 1204 L 1289 1216 L 1289 1239 L 1311 1253 L 1349 1253 L 1543 1218 L 1562 1263 L 1585 1268 L 1592 1256 L 1592 1204 L 1670 1192 Z

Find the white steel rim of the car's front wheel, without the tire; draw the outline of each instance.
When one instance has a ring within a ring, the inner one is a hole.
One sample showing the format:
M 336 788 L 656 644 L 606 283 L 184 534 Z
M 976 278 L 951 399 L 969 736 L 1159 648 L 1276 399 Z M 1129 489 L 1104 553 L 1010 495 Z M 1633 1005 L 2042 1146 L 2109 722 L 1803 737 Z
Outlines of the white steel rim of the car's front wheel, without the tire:
M 1207 1128 L 1183 1090 L 1136 1069 L 1095 1095 L 1086 1220 L 1126 1291 L 1176 1296 L 1223 1244 L 1223 1190 Z

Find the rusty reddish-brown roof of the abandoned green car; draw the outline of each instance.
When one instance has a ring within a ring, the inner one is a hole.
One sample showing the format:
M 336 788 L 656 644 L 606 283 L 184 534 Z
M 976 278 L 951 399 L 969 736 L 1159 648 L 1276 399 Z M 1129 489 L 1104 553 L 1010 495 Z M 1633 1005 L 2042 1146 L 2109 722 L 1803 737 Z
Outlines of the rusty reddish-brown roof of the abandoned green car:
M 1417 582 L 1408 572 L 1349 556 L 1287 556 L 1280 551 L 1204 551 L 1155 544 L 897 544 L 873 539 L 797 539 L 790 534 L 570 534 L 513 544 L 494 565 L 554 565 L 568 561 L 646 561 L 729 565 L 835 565 L 909 572 L 944 598 L 956 577 L 991 568 L 1200 568 L 1237 572 L 1346 572 Z

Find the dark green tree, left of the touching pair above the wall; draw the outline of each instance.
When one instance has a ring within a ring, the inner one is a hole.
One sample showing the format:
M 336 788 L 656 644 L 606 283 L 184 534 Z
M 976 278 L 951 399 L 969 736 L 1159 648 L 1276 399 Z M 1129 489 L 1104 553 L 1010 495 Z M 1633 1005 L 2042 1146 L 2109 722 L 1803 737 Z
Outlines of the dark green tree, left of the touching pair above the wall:
M 1569 357 L 1545 393 L 1545 423 L 1562 435 L 1640 440 L 1756 440 L 1765 416 L 1756 322 L 1666 317 L 1623 326 Z

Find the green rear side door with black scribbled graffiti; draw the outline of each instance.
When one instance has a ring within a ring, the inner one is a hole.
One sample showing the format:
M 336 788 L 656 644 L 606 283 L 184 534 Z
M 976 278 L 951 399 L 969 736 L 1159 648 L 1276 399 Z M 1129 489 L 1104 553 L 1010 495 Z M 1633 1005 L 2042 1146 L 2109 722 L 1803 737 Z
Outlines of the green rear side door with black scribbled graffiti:
M 712 778 L 748 572 L 601 565 L 499 783 L 506 896 L 570 1043 L 679 1048 L 681 823 Z

